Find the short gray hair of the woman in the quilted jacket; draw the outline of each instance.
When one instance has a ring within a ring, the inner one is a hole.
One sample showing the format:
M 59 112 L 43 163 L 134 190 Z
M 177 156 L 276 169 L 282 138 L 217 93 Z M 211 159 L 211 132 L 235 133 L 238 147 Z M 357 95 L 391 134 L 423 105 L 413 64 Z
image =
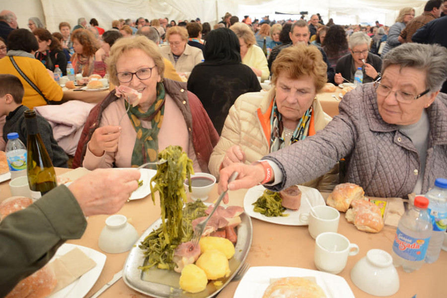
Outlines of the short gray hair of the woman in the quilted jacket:
M 439 45 L 405 43 L 385 54 L 382 74 L 392 65 L 424 71 L 427 89 L 438 91 L 447 79 L 447 49 Z

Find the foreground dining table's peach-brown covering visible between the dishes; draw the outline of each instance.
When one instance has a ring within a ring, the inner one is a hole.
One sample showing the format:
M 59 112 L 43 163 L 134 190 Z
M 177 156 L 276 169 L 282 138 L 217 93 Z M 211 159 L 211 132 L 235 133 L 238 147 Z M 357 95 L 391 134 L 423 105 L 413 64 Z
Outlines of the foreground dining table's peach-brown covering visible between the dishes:
M 65 176 L 73 180 L 87 172 L 88 171 L 84 168 L 77 168 L 75 170 L 56 168 L 58 176 Z M 0 201 L 10 196 L 8 182 L 9 181 L 4 181 L 0 184 Z M 243 207 L 246 192 L 247 190 L 245 189 L 229 191 L 228 205 Z M 328 193 L 321 194 L 323 198 L 326 198 L 328 195 Z M 88 194 L 86 193 L 85 195 Z M 149 195 L 139 200 L 127 202 L 117 213 L 126 216 L 128 222 L 136 228 L 139 235 L 160 217 L 158 193 L 155 193 L 154 195 L 155 202 L 152 202 L 151 196 Z M 189 194 L 187 197 L 188 200 L 190 200 Z M 212 203 L 217 198 L 218 191 L 217 185 L 215 185 L 209 194 L 207 202 Z M 105 226 L 107 217 L 108 215 L 88 217 L 88 224 L 82 237 L 80 239 L 68 240 L 67 243 L 85 246 L 102 252 L 98 247 L 98 238 L 101 230 Z M 317 270 L 313 262 L 315 240 L 310 236 L 306 225 L 272 224 L 254 218 L 252 218 L 251 221 L 253 226 L 252 242 L 245 259 L 245 262 L 249 263 L 251 268 L 256 266 L 283 266 Z M 345 219 L 344 213 L 341 213 L 338 233 L 346 236 L 351 243 L 356 243 L 360 248 L 357 255 L 348 258 L 346 267 L 338 274 L 338 276 L 346 280 L 355 297 L 375 297 L 357 288 L 351 281 L 350 272 L 356 262 L 365 257 L 370 249 L 377 248 L 390 253 L 396 228 L 385 225 L 378 233 L 360 231 L 353 224 L 349 224 Z M 87 295 L 84 296 L 85 298 L 90 298 L 96 291 L 109 282 L 115 273 L 123 269 L 129 252 L 117 254 L 103 253 L 107 256 L 105 265 L 96 283 Z M 424 264 L 418 271 L 406 273 L 401 267 L 397 268 L 400 279 L 400 288 L 396 294 L 389 297 L 413 298 L 416 297 L 416 295 L 418 298 L 446 297 L 447 287 L 444 284 L 446 266 L 447 252 L 441 251 L 438 261 L 432 264 Z M 239 283 L 240 281 L 230 282 L 224 289 L 222 289 L 217 297 L 233 297 Z M 125 284 L 123 279 L 120 279 L 100 297 L 147 298 L 149 296 L 131 289 Z M 247 295 L 247 297 L 251 296 Z

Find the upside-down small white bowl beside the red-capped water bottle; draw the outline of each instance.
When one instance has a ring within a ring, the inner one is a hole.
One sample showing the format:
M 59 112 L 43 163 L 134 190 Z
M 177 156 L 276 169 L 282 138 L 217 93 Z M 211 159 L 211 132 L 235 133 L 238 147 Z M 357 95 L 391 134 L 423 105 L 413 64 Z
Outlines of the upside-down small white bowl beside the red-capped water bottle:
M 351 280 L 360 290 L 374 296 L 390 296 L 399 290 L 399 275 L 389 253 L 370 249 L 351 270 Z

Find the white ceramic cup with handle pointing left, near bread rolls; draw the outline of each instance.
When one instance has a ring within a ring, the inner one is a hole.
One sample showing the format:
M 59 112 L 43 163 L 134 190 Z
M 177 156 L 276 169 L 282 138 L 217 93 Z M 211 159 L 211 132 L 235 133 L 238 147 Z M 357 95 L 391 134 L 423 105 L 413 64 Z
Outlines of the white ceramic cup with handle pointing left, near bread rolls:
M 316 238 L 323 232 L 337 232 L 338 222 L 340 220 L 340 212 L 330 206 L 313 207 L 317 217 L 311 212 L 299 215 L 299 221 L 308 224 L 310 236 Z

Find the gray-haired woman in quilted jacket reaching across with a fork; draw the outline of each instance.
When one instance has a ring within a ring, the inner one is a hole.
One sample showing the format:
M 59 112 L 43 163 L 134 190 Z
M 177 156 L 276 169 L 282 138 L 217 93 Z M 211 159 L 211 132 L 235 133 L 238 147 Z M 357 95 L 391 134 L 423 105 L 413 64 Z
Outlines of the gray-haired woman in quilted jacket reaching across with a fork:
M 345 181 L 365 195 L 406 198 L 423 194 L 447 177 L 447 49 L 408 43 L 383 58 L 382 77 L 358 86 L 340 102 L 340 114 L 315 136 L 263 157 L 255 165 L 233 164 L 221 171 L 241 179 L 230 190 L 272 183 L 281 190 L 317 177 L 345 157 Z M 273 171 L 266 177 L 264 167 Z M 270 184 L 269 184 L 270 185 Z

